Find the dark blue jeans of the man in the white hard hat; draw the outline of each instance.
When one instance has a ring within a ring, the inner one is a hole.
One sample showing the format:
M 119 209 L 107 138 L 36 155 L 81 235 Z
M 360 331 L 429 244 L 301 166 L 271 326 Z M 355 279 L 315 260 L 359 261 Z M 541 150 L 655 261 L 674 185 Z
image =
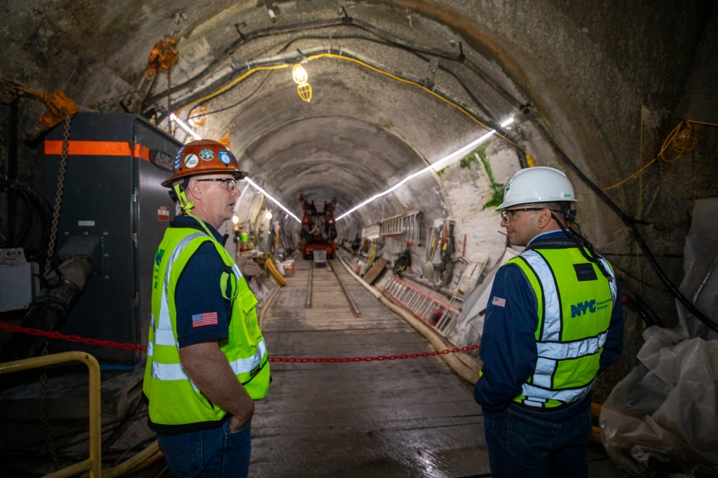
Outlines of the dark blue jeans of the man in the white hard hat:
M 590 401 L 561 411 L 510 405 L 484 411 L 492 478 L 586 478 L 591 434 Z

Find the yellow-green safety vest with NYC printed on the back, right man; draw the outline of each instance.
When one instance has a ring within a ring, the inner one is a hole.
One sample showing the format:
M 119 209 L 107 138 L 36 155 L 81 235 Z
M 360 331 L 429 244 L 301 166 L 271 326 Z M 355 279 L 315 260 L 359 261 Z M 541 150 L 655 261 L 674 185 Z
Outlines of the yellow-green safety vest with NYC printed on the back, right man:
M 610 264 L 599 260 L 614 280 L 577 248 L 533 248 L 507 261 L 526 274 L 538 315 L 536 367 L 514 401 L 554 408 L 591 390 L 617 295 Z

